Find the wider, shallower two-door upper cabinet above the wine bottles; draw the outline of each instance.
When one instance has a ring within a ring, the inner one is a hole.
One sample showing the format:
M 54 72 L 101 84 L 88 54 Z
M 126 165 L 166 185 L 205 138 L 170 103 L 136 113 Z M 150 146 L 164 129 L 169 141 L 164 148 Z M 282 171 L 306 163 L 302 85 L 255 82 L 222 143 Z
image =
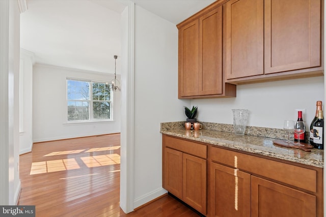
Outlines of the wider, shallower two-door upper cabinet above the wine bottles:
M 226 3 L 226 82 L 322 75 L 320 0 Z

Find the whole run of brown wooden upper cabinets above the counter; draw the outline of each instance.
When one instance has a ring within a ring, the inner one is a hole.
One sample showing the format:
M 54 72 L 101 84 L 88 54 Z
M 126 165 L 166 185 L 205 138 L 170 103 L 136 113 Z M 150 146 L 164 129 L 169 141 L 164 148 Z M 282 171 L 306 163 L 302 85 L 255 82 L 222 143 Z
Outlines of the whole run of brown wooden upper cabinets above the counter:
M 323 0 L 218 0 L 177 25 L 179 98 L 323 75 Z

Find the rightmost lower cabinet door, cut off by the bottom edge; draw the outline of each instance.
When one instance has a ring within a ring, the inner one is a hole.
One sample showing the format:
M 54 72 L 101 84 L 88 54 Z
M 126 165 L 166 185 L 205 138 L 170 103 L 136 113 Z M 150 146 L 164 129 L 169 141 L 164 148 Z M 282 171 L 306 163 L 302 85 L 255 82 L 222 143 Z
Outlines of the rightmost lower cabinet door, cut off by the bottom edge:
M 316 216 L 316 197 L 252 176 L 251 216 Z

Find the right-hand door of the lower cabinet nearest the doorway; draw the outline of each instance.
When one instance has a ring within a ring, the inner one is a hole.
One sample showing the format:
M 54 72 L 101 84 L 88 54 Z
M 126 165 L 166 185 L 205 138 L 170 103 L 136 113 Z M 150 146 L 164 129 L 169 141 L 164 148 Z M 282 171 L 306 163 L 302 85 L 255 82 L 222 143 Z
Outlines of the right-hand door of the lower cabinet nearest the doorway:
M 183 153 L 183 201 L 206 214 L 206 160 Z

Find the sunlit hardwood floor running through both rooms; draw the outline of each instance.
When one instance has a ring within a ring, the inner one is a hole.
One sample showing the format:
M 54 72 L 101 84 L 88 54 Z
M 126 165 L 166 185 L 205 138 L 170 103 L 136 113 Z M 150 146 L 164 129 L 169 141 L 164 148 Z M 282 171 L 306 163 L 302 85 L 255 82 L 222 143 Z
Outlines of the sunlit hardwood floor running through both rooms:
M 36 216 L 199 216 L 169 195 L 125 214 L 120 208 L 120 134 L 35 143 L 20 156 L 18 205 Z

